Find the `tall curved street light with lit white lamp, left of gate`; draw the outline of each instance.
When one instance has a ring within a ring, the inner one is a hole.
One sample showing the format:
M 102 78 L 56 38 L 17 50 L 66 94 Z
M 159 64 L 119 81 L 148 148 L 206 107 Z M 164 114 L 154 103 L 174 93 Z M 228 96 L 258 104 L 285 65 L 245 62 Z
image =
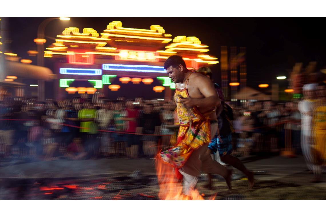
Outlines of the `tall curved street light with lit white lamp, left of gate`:
M 68 17 L 51 17 L 48 19 L 45 19 L 41 22 L 41 24 L 38 26 L 37 29 L 37 38 L 34 39 L 34 41 L 37 44 L 37 65 L 38 66 L 44 66 L 44 43 L 46 40 L 44 39 L 44 31 L 45 27 L 51 22 L 52 20 L 70 20 Z M 38 87 L 37 87 L 37 93 L 38 93 L 38 99 L 40 101 L 43 101 L 45 99 L 45 83 L 43 80 L 37 81 Z

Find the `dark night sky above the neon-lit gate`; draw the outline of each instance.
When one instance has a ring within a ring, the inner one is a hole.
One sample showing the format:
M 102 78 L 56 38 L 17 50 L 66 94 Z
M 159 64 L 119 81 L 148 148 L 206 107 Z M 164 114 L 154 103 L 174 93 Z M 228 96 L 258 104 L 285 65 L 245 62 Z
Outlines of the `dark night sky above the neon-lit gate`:
M 2 42 L 12 40 L 7 50 L 25 59 L 28 50 L 36 50 L 42 17 L 2 18 Z M 220 46 L 246 47 L 247 84 L 271 82 L 278 75 L 288 75 L 296 62 L 317 61 L 317 70 L 326 67 L 326 42 L 322 33 L 325 18 L 128 18 L 128 17 L 71 17 L 70 21 L 51 21 L 46 30 L 46 46 L 54 42 L 66 27 L 93 28 L 101 33 L 109 22 L 122 21 L 123 27 L 149 29 L 161 25 L 167 34 L 196 36 L 209 46 L 210 55 L 220 59 Z M 46 60 L 51 68 L 52 62 Z M 220 63 L 212 67 L 215 81 L 220 81 Z

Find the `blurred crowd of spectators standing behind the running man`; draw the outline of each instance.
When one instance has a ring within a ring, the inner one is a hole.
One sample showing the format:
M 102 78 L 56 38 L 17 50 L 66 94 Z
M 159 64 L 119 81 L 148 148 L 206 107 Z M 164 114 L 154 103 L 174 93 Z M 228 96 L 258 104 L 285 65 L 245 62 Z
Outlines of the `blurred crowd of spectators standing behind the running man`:
M 325 105 L 325 85 L 306 88 L 303 94 L 291 102 L 226 102 L 233 110 L 232 155 L 279 154 L 285 149 L 303 154 L 302 130 L 313 129 L 312 118 L 306 117 L 313 114 L 305 110 Z M 173 100 L 112 101 L 101 93 L 46 102 L 3 97 L 1 159 L 153 158 L 176 143 L 175 107 Z

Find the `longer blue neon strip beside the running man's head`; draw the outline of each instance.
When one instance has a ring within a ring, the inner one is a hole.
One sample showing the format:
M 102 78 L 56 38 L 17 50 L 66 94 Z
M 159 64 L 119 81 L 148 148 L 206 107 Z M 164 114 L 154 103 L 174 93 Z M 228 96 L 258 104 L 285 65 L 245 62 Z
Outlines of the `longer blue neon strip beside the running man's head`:
M 109 71 L 166 73 L 163 66 L 154 65 L 103 64 L 102 69 Z

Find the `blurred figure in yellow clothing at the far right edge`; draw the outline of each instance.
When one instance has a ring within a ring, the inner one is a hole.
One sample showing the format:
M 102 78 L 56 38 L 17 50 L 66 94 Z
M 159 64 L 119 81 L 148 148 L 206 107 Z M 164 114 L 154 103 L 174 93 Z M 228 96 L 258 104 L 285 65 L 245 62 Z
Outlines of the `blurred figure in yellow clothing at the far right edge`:
M 313 114 L 314 144 L 312 147 L 314 179 L 312 182 L 321 181 L 322 165 L 326 162 L 326 85 L 320 83 L 317 87 L 316 109 Z

